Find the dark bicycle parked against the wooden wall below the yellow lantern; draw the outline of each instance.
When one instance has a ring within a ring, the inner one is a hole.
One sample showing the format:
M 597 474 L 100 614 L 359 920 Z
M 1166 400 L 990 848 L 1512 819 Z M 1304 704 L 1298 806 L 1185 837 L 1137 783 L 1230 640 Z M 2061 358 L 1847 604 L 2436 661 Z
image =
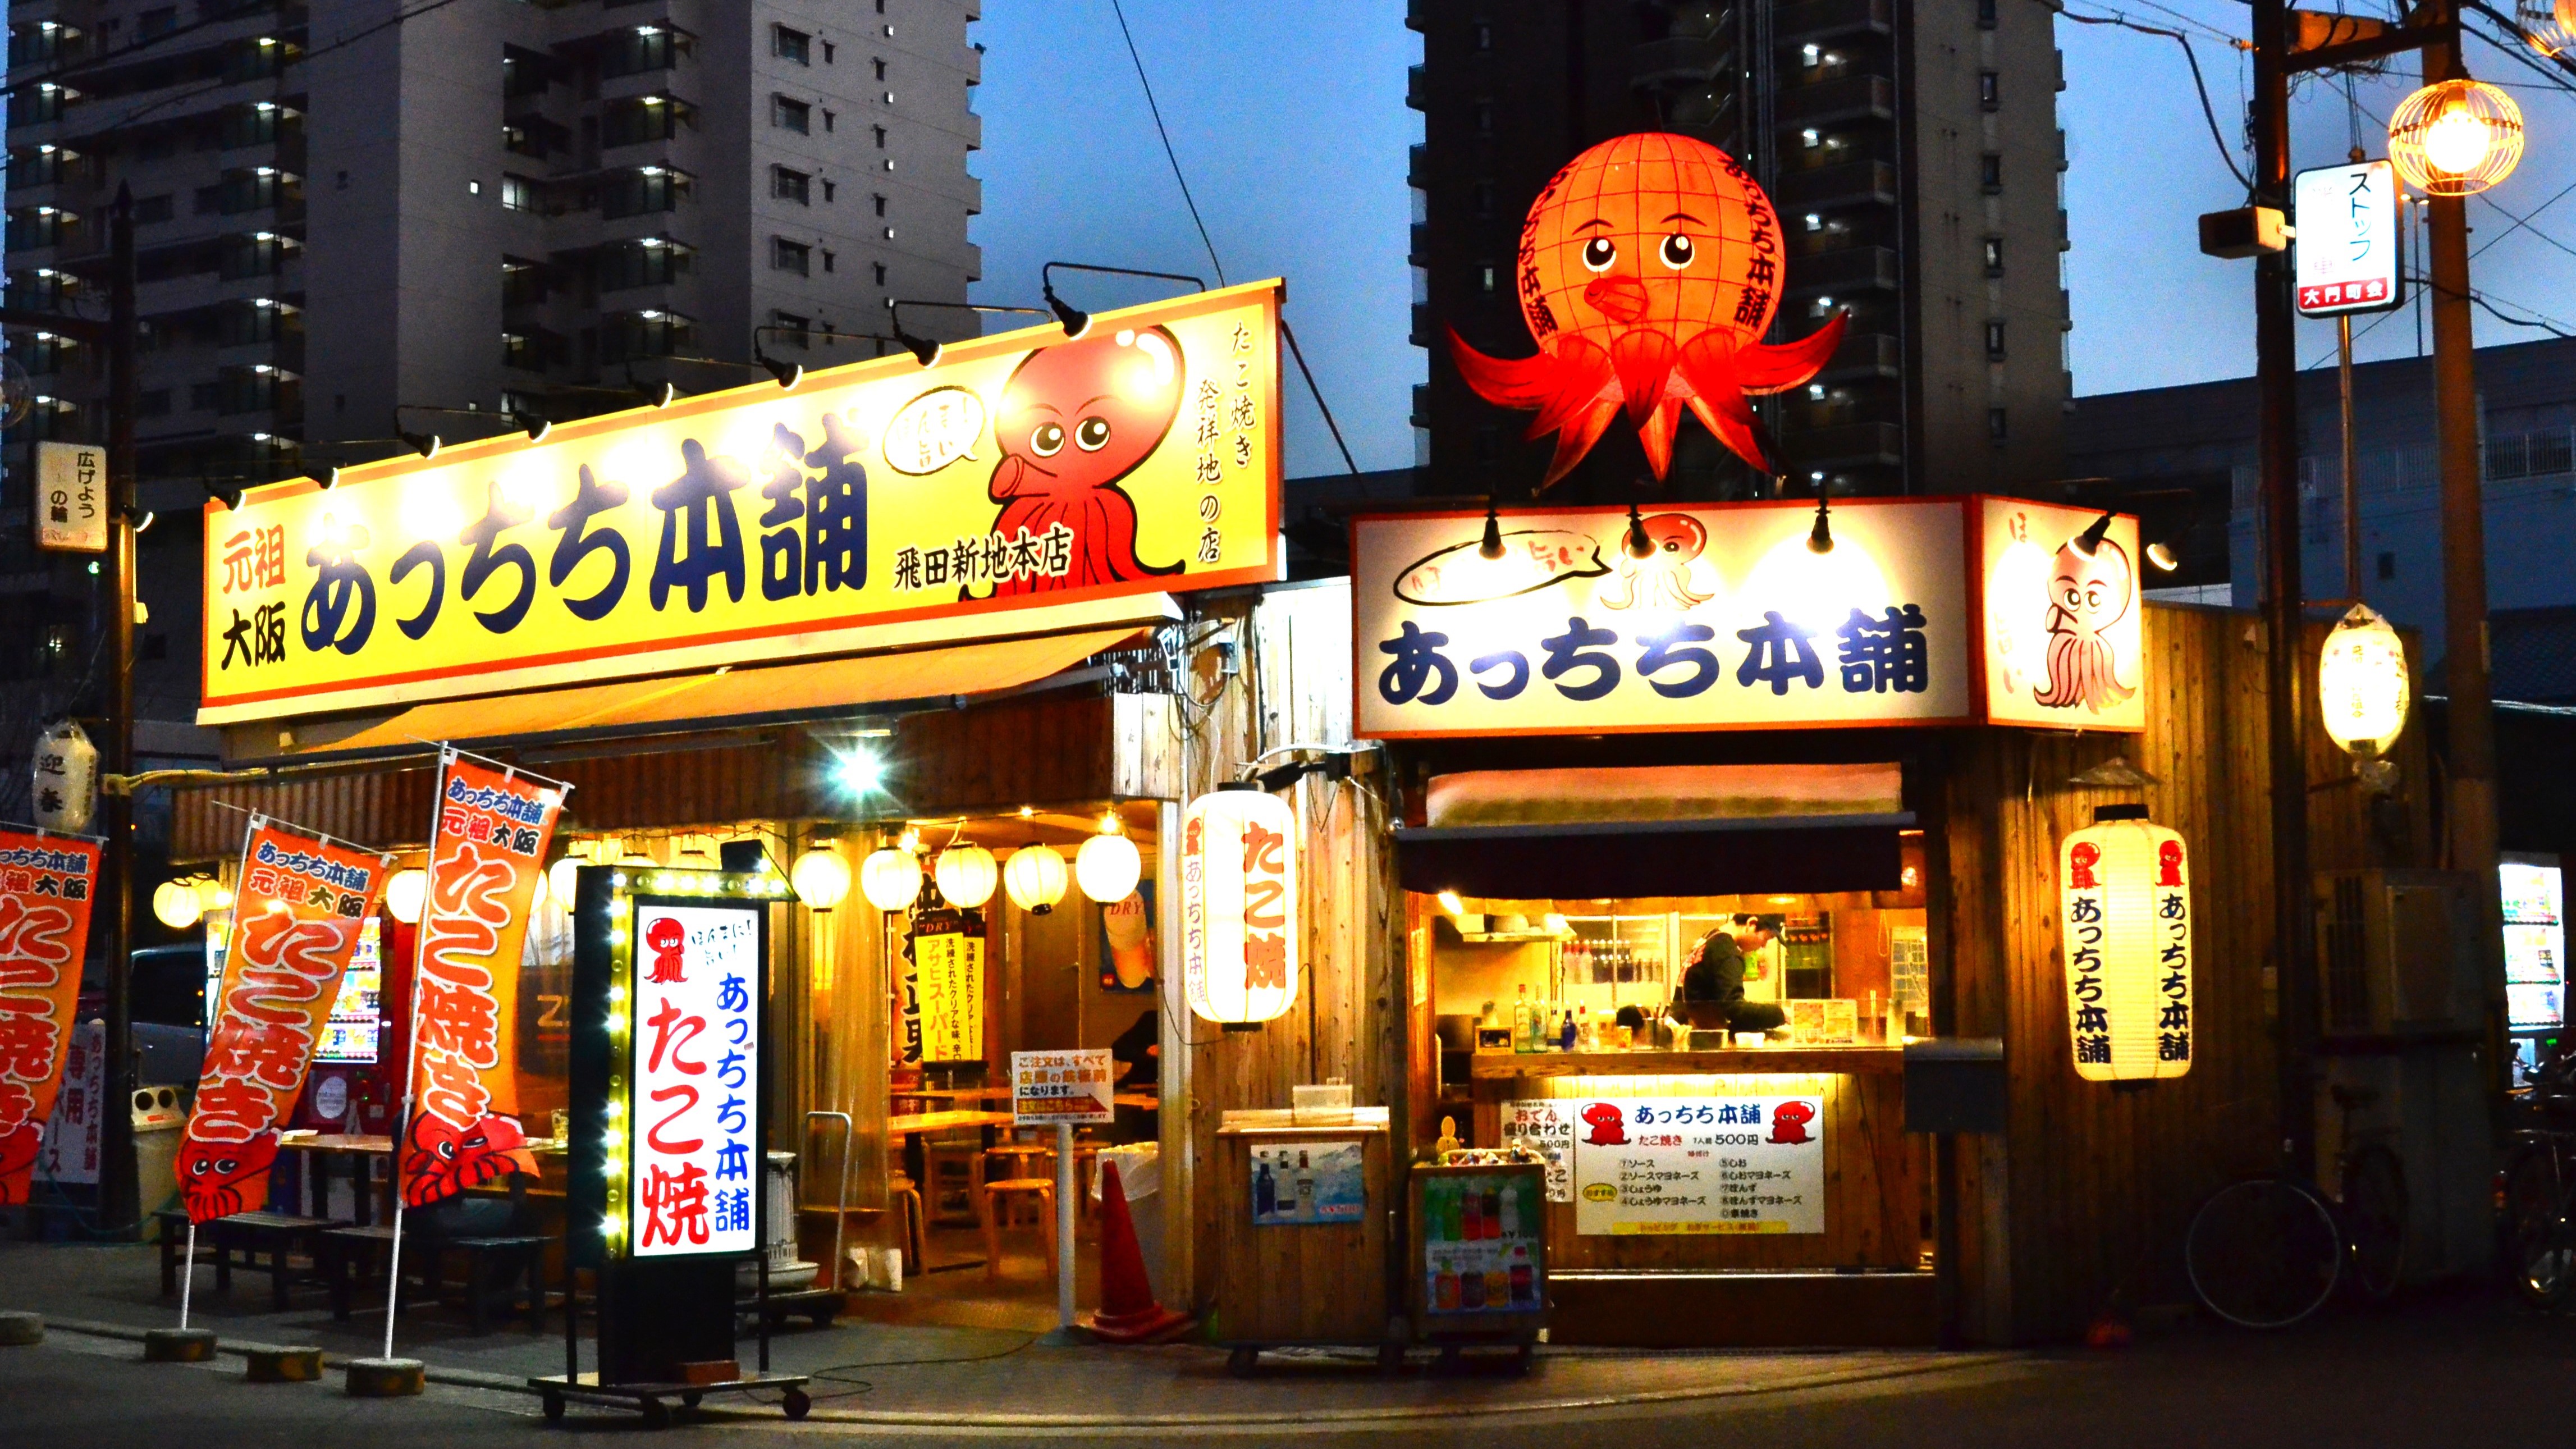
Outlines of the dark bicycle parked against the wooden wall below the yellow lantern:
M 2342 1109 L 2336 1199 L 2290 1176 L 2228 1183 L 2200 1204 L 2182 1266 L 2202 1307 L 2239 1328 L 2290 1328 L 2326 1307 L 2336 1287 L 2388 1302 L 2406 1274 L 2406 1165 L 2352 1116 L 2370 1088 L 2334 1088 Z

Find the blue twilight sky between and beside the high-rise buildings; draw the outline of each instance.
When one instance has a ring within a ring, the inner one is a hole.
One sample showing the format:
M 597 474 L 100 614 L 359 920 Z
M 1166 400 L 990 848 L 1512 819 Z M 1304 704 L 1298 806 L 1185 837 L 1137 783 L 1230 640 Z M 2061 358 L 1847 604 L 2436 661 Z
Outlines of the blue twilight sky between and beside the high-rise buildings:
M 1296 327 L 1363 469 L 1414 456 L 1412 384 L 1427 356 L 1406 343 L 1412 276 L 1404 263 L 1412 191 L 1404 147 L 1422 119 L 1404 106 L 1404 67 L 1422 59 L 1401 0 L 1123 0 L 1154 77 L 1154 98 L 1190 178 L 1200 217 L 1231 281 L 1288 278 Z M 2002 0 L 2035 5 L 2040 0 Z M 2074 0 L 2081 13 L 2110 3 Z M 2244 57 L 2236 0 L 2117 0 L 2143 23 L 2195 34 L 2221 126 L 2244 116 Z M 2501 8 L 2501 5 L 2499 5 Z M 1036 304 L 1038 266 L 1092 260 L 1211 276 L 1208 253 L 1154 137 L 1110 0 L 984 0 L 971 36 L 987 46 L 984 248 L 976 302 Z M 2241 201 L 2218 160 L 2182 49 L 2161 36 L 2058 23 L 2066 49 L 2071 168 L 2066 209 L 2074 250 L 2076 392 L 2120 392 L 2254 369 L 2251 263 L 2202 258 L 2195 217 Z M 2411 67 L 2411 62 L 2406 62 Z M 2576 95 L 2483 44 L 2481 80 L 2522 103 L 2530 150 L 2494 201 L 2470 201 L 2473 284 L 2512 315 L 2543 312 L 2576 333 Z M 2391 106 L 2411 75 L 2365 80 L 2362 144 L 2385 152 Z M 2339 162 L 2349 108 L 2339 85 L 2308 83 L 2293 101 L 2298 168 Z M 2566 188 L 2566 191 L 2561 191 Z M 2514 217 L 2530 227 L 2514 229 Z M 1154 284 L 1074 278 L 1079 304 L 1141 302 Z M 994 317 L 992 330 L 1012 317 Z M 2548 333 L 2478 315 L 2478 343 Z M 2388 315 L 2357 340 L 2357 356 L 2411 356 L 2416 312 Z M 2331 364 L 2334 330 L 2300 322 L 2300 364 Z M 1293 374 L 1288 384 L 1288 474 L 1342 467 L 1324 423 Z

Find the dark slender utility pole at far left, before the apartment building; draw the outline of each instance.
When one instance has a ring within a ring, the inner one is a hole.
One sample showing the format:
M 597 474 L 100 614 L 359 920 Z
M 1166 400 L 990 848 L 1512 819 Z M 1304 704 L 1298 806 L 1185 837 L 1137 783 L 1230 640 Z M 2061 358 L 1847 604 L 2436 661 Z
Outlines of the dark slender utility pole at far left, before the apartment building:
M 108 211 L 108 776 L 134 773 L 134 191 Z M 103 792 L 108 908 L 108 1101 L 100 1111 L 98 1222 L 118 1238 L 142 1220 L 134 1181 L 134 794 Z

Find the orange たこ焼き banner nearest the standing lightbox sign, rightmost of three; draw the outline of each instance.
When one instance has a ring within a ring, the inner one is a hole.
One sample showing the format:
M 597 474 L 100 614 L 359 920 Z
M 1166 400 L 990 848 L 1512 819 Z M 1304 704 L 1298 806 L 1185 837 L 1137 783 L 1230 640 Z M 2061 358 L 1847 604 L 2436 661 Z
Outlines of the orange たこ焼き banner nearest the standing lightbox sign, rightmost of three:
M 440 753 L 399 1152 L 410 1207 L 536 1171 L 518 1124 L 518 951 L 564 789 Z

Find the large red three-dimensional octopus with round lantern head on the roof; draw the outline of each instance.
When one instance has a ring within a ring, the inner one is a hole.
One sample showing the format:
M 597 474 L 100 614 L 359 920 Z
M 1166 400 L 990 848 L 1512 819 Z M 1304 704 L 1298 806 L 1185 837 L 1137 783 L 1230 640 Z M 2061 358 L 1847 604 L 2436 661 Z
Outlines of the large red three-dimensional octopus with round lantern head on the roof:
M 1783 286 L 1780 214 L 1736 157 L 1664 131 L 1566 162 L 1520 229 L 1520 315 L 1538 356 L 1489 358 L 1450 330 L 1486 402 L 1530 407 L 1556 433 L 1556 482 L 1623 410 L 1662 480 L 1690 407 L 1736 456 L 1780 472 L 1749 394 L 1798 387 L 1842 343 L 1847 315 L 1770 345 Z

